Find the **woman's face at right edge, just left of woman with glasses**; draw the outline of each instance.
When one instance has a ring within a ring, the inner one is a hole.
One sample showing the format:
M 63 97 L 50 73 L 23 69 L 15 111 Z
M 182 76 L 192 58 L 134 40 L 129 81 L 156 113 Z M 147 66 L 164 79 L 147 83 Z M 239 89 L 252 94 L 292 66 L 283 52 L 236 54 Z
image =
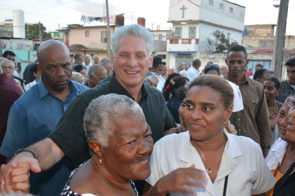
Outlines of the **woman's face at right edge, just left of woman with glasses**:
M 290 107 L 287 105 L 287 102 L 285 102 L 282 108 L 280 109 L 278 117 L 276 119 L 280 136 L 284 141 L 287 140 L 286 132 L 287 132 L 287 126 L 288 126 L 289 109 Z

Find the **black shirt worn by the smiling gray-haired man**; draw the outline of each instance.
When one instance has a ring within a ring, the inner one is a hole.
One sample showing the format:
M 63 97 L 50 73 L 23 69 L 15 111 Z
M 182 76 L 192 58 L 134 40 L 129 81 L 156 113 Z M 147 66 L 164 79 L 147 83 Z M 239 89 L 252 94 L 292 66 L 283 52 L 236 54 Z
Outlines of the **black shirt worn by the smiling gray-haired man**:
M 151 127 L 154 142 L 156 142 L 164 136 L 164 131 L 174 128 L 176 125 L 160 91 L 143 85 L 141 92 L 142 97 L 138 104 L 143 110 L 145 119 Z M 134 100 L 113 74 L 109 81 L 78 95 L 55 130 L 48 136 L 77 167 L 90 158 L 83 127 L 85 110 L 93 99 L 109 93 L 126 95 Z

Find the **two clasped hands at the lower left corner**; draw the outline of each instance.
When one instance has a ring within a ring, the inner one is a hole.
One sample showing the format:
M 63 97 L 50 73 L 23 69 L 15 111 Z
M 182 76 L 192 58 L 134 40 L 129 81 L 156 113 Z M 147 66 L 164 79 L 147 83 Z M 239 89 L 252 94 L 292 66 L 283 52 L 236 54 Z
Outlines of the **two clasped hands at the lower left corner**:
M 7 165 L 1 165 L 0 193 L 26 193 L 29 189 L 28 174 L 41 172 L 38 160 L 29 152 L 15 155 Z

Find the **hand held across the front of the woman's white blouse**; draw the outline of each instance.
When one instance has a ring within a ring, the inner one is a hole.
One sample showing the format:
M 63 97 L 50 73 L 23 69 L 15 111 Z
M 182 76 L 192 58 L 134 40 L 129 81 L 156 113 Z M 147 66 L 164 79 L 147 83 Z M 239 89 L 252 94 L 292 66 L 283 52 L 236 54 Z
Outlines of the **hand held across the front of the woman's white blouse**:
M 206 184 L 207 178 L 205 177 L 205 172 L 196 169 L 195 165 L 193 164 L 189 168 L 179 168 L 174 170 L 170 174 L 162 177 L 155 184 L 154 190 L 157 190 L 156 192 L 161 194 L 186 193 L 197 195 L 197 193 L 189 187 L 204 189 L 206 187 Z

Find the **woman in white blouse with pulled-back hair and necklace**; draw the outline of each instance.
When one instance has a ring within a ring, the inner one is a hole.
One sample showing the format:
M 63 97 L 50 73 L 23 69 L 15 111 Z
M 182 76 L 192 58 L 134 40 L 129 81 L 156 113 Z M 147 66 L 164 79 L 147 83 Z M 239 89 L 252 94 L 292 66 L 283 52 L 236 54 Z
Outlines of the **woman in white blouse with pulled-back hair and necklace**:
M 144 196 L 251 196 L 274 186 L 259 144 L 225 131 L 232 104 L 233 89 L 222 77 L 205 74 L 190 83 L 184 111 L 189 131 L 155 143 Z

